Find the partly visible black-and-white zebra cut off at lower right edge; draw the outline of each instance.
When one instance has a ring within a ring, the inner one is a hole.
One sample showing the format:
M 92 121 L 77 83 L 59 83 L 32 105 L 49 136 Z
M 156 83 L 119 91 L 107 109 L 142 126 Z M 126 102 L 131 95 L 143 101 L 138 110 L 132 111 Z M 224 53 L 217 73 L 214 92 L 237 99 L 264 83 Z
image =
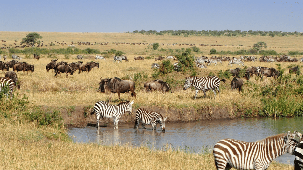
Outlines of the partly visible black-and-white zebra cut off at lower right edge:
M 296 156 L 294 161 L 294 169 L 302 170 L 303 169 L 303 135 L 297 131 L 294 131 L 295 135 L 300 139 L 295 150 L 294 155 Z

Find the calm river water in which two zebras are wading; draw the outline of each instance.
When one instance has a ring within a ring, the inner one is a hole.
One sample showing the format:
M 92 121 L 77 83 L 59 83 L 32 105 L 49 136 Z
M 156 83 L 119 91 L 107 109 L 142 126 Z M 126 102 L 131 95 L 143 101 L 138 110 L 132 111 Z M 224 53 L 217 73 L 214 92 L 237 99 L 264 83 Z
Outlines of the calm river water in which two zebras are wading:
M 294 130 L 302 133 L 302 117 L 296 118 L 248 118 L 234 120 L 207 120 L 190 123 L 166 123 L 165 132 L 158 124 L 157 130 L 133 129 L 133 124 L 119 124 L 113 129 L 112 123 L 107 127 L 87 126 L 68 129 L 68 135 L 74 142 L 96 142 L 102 145 L 147 146 L 151 149 L 181 149 L 185 152 L 201 153 L 205 148 L 215 145 L 221 139 L 230 138 L 245 142 L 255 142 L 279 133 L 291 133 Z M 295 138 L 298 140 L 298 138 Z M 293 164 L 294 155 L 285 154 L 275 161 Z

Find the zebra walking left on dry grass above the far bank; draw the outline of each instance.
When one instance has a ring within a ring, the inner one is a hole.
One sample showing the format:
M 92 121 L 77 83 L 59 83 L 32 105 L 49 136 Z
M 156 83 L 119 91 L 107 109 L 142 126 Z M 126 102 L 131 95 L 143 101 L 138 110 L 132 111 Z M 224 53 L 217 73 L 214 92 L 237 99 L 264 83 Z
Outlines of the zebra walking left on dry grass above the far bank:
M 216 89 L 218 90 L 219 97 L 220 97 L 220 81 L 226 83 L 225 79 L 220 80 L 217 76 L 209 76 L 209 77 L 197 77 L 197 76 L 190 76 L 185 78 L 185 83 L 183 86 L 183 90 L 186 90 L 188 87 L 195 87 L 196 94 L 194 100 L 197 98 L 198 91 L 202 90 L 204 96 L 206 97 L 206 90 L 212 90 L 215 94 L 215 98 L 217 95 Z

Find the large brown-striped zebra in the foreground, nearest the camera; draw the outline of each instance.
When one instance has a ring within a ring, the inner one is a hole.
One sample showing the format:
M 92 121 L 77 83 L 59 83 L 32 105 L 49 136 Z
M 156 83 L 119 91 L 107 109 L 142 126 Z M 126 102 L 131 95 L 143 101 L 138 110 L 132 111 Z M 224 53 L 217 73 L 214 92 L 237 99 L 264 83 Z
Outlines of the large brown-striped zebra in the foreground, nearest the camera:
M 286 136 L 285 136 L 286 135 Z M 215 165 L 218 170 L 267 169 L 271 161 L 285 153 L 293 154 L 297 141 L 288 131 L 269 136 L 257 142 L 243 142 L 234 139 L 222 139 L 213 149 Z

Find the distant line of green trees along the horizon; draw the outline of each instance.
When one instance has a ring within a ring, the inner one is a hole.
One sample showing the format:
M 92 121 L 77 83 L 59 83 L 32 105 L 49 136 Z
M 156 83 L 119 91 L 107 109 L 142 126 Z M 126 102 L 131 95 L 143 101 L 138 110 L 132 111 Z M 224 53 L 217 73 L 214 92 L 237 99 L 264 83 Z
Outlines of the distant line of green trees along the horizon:
M 155 34 L 155 35 L 177 35 L 177 36 L 249 36 L 249 35 L 261 35 L 261 36 L 288 36 L 288 35 L 303 35 L 303 33 L 300 32 L 282 32 L 282 31 L 240 31 L 240 30 L 224 30 L 224 31 L 211 31 L 211 30 L 202 30 L 202 31 L 194 31 L 194 30 L 167 30 L 167 31 L 155 31 L 155 30 L 149 30 L 149 31 L 133 31 L 132 33 L 140 33 L 140 34 Z

